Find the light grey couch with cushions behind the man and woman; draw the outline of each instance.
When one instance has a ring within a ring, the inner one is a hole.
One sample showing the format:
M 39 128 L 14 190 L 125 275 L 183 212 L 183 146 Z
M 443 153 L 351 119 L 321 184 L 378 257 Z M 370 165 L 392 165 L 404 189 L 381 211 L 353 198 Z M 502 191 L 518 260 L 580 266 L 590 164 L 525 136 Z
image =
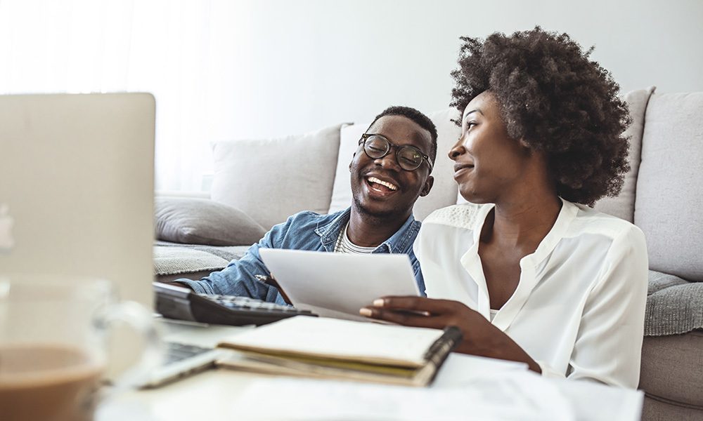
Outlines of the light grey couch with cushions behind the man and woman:
M 633 117 L 631 171 L 621 194 L 596 208 L 633 222 L 647 237 L 651 271 L 640 380 L 646 396 L 643 420 L 703 420 L 703 218 L 697 214 L 703 209 L 703 93 L 655 94 L 648 88 L 624 98 Z M 453 109 L 430 114 L 439 132 L 436 182 L 415 205 L 418 219 L 463 201 L 444 154 L 459 135 L 449 121 L 456 115 Z M 253 233 L 299 210 L 345 208 L 351 203 L 347 166 L 367 126 L 342 124 L 285 139 L 221 142 L 214 147 L 212 190 L 201 196 L 250 215 L 233 213 L 226 223 L 241 221 L 247 225 L 242 232 Z M 272 148 L 280 153 L 271 154 Z M 224 224 L 217 218 L 226 217 L 207 218 L 202 210 L 186 223 L 183 215 L 162 218 L 171 218 L 172 227 L 188 225 L 179 228 L 191 235 Z M 192 238 L 200 245 L 186 245 L 174 242 L 183 241 L 179 236 L 162 236 L 170 241 L 157 243 L 156 273 L 170 280 L 221 269 L 256 241 L 234 237 L 243 245 L 212 247 L 197 235 Z

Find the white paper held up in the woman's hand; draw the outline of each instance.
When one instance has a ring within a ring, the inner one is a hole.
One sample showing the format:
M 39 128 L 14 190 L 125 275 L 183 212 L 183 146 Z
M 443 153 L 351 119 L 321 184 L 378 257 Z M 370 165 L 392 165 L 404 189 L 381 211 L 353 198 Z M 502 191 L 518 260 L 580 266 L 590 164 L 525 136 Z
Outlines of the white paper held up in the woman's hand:
M 420 295 L 406 254 L 354 255 L 260 248 L 290 302 L 320 316 L 368 321 L 361 307 L 383 295 Z

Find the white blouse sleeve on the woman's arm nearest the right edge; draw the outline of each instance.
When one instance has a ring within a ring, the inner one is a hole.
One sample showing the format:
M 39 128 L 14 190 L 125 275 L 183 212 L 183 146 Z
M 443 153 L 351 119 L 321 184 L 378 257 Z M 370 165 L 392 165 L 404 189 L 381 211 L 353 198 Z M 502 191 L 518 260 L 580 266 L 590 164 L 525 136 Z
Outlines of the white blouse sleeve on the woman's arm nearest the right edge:
M 645 236 L 628 225 L 612 242 L 586 298 L 567 378 L 637 387 L 647 269 Z

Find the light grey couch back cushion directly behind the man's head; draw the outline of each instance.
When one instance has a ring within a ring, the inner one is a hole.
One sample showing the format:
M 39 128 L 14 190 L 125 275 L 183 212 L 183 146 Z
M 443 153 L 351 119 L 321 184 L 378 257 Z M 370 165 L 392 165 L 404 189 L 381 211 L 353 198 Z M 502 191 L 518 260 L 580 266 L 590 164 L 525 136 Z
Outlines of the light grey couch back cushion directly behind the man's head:
M 458 190 L 456 182 L 452 178 L 452 163 L 449 156 L 447 156 L 449 149 L 460 135 L 460 128 L 449 121 L 450 119 L 458 118 L 458 111 L 453 108 L 447 108 L 427 116 L 437 126 L 437 159 L 432 170 L 432 175 L 434 176 L 432 191 L 427 196 L 420 197 L 415 203 L 415 208 L 413 208 L 413 214 L 418 220 L 423 220 L 425 216 L 432 213 L 432 210 L 455 204 Z M 356 148 L 359 145 L 361 134 L 366 131 L 369 124 L 370 122 L 359 123 L 342 128 L 340 154 L 337 159 L 330 213 L 346 209 L 352 203 L 352 187 L 349 184 L 349 163 L 352 161 L 352 156 L 354 156 L 354 152 L 356 152 Z

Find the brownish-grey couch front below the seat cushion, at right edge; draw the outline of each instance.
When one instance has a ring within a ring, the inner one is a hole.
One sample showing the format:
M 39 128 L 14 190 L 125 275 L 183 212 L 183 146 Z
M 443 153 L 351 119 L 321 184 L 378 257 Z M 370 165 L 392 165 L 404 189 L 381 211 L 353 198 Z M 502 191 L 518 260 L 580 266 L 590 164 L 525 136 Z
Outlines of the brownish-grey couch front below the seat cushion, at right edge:
M 701 349 L 701 330 L 644 338 L 639 388 L 654 399 L 703 409 Z

